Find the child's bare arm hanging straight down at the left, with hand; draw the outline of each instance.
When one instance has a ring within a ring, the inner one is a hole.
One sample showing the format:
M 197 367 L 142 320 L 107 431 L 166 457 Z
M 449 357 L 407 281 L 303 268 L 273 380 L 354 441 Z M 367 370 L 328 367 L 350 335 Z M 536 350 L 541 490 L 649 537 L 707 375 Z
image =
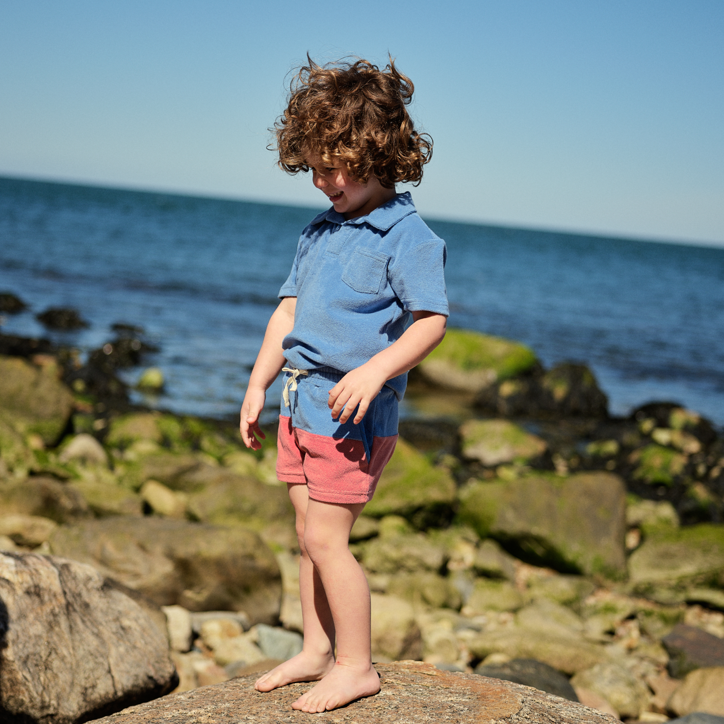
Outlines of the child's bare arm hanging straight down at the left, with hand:
M 266 325 L 264 342 L 259 350 L 254 369 L 249 377 L 249 384 L 244 395 L 244 402 L 241 405 L 241 421 L 239 429 L 241 439 L 246 447 L 258 450 L 261 442 L 257 437 L 266 437 L 259 428 L 259 414 L 264 409 L 266 401 L 266 390 L 269 385 L 277 379 L 279 371 L 286 360 L 282 355 L 282 340 L 292 331 L 294 327 L 294 311 L 297 306 L 296 297 L 285 297 Z M 256 437 L 254 435 L 256 434 Z

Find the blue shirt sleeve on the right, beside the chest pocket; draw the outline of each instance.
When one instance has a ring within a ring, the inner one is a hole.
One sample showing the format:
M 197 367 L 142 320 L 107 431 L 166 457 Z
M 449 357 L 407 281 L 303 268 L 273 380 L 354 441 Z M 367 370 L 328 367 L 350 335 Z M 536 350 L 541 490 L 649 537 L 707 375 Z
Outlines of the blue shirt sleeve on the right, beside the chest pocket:
M 447 249 L 442 239 L 405 245 L 387 267 L 387 279 L 405 311 L 450 315 L 445 289 Z

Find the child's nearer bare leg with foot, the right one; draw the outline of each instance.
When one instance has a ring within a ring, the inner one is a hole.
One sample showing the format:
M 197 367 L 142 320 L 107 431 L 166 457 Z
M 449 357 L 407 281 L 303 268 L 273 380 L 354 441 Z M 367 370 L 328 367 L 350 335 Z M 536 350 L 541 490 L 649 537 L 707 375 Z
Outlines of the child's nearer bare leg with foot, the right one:
M 379 691 L 370 651 L 369 586 L 348 547 L 350 529 L 363 508 L 363 503 L 309 500 L 304 545 L 327 593 L 337 633 L 337 661 L 292 709 L 324 712 Z

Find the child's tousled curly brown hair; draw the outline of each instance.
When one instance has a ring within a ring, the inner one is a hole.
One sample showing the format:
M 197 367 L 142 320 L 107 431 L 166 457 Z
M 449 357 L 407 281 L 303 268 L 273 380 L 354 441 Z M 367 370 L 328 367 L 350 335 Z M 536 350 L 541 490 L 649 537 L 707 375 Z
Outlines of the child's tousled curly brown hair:
M 363 59 L 319 65 L 307 56 L 290 83 L 287 108 L 274 124 L 279 167 L 307 172 L 309 156 L 342 161 L 353 179 L 376 176 L 384 188 L 422 180 L 432 138 L 418 133 L 407 108 L 415 87 L 390 63 Z M 272 129 L 270 129 L 272 130 Z

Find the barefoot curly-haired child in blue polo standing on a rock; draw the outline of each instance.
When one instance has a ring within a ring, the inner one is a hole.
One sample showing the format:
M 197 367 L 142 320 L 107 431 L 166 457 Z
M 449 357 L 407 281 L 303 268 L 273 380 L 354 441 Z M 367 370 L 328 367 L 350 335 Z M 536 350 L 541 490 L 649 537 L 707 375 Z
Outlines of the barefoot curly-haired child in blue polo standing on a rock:
M 407 372 L 445 336 L 445 243 L 395 192 L 418 184 L 432 156 L 405 107 L 413 90 L 392 60 L 382 71 L 310 60 L 275 126 L 279 166 L 311 169 L 332 202 L 302 232 L 240 424 L 258 449 L 266 390 L 283 370 L 277 476 L 296 512 L 304 647 L 256 689 L 319 681 L 292 704 L 303 712 L 379 691 L 369 587 L 349 534 L 395 449 Z

